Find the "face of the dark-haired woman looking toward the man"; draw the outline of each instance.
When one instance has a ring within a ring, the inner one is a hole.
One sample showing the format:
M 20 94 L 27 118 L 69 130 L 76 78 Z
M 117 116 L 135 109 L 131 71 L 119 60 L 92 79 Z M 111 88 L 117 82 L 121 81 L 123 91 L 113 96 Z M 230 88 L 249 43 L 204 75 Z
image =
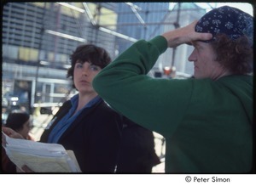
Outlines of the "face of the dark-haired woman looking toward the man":
M 77 61 L 73 70 L 73 82 L 79 93 L 96 93 L 92 87 L 94 77 L 102 70 L 89 61 Z

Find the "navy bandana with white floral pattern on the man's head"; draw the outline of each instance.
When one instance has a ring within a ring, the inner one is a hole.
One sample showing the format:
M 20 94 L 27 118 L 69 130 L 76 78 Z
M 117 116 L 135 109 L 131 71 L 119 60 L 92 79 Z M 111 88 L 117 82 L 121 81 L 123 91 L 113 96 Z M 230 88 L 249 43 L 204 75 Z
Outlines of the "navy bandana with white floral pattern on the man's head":
M 238 8 L 214 8 L 201 17 L 195 25 L 195 31 L 212 33 L 212 40 L 216 39 L 218 33 L 226 34 L 233 41 L 246 36 L 253 44 L 253 17 Z

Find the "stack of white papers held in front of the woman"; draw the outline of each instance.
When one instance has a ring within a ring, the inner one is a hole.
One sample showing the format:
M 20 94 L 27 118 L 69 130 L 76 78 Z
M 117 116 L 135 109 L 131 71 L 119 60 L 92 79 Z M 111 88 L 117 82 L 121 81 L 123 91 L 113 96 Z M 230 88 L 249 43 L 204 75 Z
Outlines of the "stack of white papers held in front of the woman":
M 6 154 L 20 169 L 26 165 L 33 172 L 81 172 L 73 151 L 67 152 L 61 144 L 9 138 L 2 134 Z

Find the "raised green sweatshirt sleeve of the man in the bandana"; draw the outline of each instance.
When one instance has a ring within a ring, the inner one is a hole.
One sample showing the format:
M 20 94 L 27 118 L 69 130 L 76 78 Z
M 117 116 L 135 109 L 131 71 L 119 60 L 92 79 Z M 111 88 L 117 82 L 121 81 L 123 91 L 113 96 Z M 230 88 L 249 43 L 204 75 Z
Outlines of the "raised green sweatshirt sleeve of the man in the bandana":
M 96 92 L 114 110 L 164 136 L 171 135 L 182 120 L 191 95 L 188 81 L 147 75 L 166 48 L 161 36 L 135 42 L 93 81 Z

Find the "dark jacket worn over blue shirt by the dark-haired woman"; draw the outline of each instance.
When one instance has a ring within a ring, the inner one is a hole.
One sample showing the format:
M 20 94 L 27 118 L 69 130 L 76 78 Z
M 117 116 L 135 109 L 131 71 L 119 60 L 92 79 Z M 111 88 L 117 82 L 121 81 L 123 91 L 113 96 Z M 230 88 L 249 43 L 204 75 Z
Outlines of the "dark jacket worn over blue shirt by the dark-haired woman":
M 41 142 L 47 143 L 49 132 L 70 108 L 70 101 L 61 106 L 53 118 L 55 121 L 42 134 Z M 112 173 L 119 153 L 121 129 L 121 116 L 101 100 L 81 112 L 58 144 L 73 150 L 82 172 Z

